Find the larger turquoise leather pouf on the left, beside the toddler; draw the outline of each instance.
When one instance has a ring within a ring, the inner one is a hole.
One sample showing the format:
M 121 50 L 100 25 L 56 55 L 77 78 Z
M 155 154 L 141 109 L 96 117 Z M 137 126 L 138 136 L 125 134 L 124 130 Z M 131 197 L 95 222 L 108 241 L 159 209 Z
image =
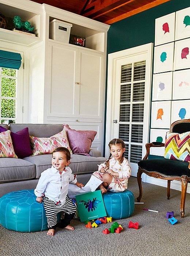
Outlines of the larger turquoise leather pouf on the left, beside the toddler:
M 48 229 L 43 203 L 36 201 L 34 189 L 11 192 L 0 198 L 0 224 L 21 232 Z

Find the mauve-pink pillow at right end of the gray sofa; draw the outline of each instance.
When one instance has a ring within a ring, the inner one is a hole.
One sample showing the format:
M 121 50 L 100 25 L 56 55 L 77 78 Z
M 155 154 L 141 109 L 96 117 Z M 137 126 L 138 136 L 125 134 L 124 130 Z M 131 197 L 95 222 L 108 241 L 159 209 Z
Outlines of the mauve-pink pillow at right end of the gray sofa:
M 69 146 L 73 154 L 87 155 L 90 151 L 92 142 L 96 136 L 96 131 L 80 131 L 71 129 L 68 124 L 63 124 L 64 130 L 66 130 Z

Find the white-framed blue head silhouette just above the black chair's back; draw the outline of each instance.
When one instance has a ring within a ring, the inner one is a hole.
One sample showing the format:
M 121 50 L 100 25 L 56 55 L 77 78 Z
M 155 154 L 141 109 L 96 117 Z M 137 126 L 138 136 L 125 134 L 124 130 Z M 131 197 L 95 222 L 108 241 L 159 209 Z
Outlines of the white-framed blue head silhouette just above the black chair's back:
M 182 101 L 172 101 L 171 103 L 171 123 L 177 120 L 190 118 L 190 99 Z

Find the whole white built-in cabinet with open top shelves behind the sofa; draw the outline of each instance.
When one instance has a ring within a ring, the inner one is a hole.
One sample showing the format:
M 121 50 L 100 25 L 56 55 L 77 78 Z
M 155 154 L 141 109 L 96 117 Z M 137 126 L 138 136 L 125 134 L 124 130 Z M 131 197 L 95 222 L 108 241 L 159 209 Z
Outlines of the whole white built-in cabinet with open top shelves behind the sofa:
M 0 0 L 0 10 L 5 16 L 28 20 L 36 31 L 31 37 L 0 28 L 0 48 L 23 46 L 24 73 L 29 78 L 24 84 L 28 88 L 25 122 L 95 130 L 92 148 L 103 152 L 109 25 L 29 0 Z M 86 38 L 85 48 L 51 39 L 53 19 L 71 23 L 71 34 Z

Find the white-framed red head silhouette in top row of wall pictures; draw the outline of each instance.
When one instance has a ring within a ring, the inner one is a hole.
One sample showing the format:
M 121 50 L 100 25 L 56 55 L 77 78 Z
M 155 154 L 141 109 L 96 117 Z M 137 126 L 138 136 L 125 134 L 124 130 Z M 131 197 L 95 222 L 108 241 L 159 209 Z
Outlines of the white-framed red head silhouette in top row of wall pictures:
M 175 12 L 155 19 L 155 46 L 175 39 Z

